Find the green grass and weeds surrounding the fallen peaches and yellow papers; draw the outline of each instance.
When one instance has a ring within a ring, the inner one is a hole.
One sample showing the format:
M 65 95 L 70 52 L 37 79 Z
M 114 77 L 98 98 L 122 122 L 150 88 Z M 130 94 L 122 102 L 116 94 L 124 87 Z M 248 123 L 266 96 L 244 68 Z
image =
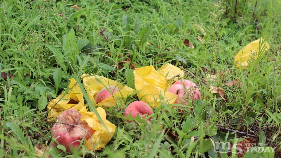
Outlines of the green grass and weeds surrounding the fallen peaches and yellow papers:
M 117 126 L 113 138 L 102 150 L 84 150 L 83 157 L 227 157 L 213 152 L 212 141 L 237 142 L 247 135 L 276 147 L 280 156 L 280 6 L 278 0 L 3 0 L 0 67 L 14 77 L 0 79 L 0 157 L 35 157 L 35 146 L 54 141 L 46 107 L 70 78 L 92 73 L 133 87 L 133 68 L 164 63 L 182 68 L 202 100 L 182 111 L 155 108 L 153 120 L 138 118 L 139 126 L 124 123 L 118 103 L 106 109 Z M 235 54 L 260 37 L 270 50 L 248 69 L 237 69 Z M 211 80 L 209 74 L 220 75 Z M 235 79 L 241 86 L 225 85 Z M 222 87 L 227 101 L 211 94 L 210 86 Z M 127 99 L 125 107 L 133 100 L 138 98 Z M 55 147 L 48 154 L 66 156 Z

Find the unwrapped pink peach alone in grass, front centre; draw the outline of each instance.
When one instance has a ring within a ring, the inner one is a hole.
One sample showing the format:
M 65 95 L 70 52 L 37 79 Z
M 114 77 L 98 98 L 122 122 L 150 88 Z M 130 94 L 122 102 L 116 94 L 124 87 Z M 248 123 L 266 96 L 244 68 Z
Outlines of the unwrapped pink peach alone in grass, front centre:
M 126 107 L 125 112 L 123 113 L 124 116 L 128 116 L 131 114 L 133 118 L 136 118 L 137 115 L 141 116 L 145 119 L 145 115 L 151 115 L 152 110 L 151 107 L 143 102 L 143 101 L 134 101 Z M 143 116 L 142 116 L 143 115 Z M 151 117 L 149 118 L 149 120 Z

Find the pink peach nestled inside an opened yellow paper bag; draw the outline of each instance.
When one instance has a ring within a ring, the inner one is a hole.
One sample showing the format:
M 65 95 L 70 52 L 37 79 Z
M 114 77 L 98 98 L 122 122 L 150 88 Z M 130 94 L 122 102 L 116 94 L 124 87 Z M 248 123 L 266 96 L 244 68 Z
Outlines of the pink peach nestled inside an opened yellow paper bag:
M 111 97 L 114 93 L 118 92 L 119 88 L 114 86 L 107 86 L 100 90 L 96 95 L 96 103 L 100 103 L 105 99 Z

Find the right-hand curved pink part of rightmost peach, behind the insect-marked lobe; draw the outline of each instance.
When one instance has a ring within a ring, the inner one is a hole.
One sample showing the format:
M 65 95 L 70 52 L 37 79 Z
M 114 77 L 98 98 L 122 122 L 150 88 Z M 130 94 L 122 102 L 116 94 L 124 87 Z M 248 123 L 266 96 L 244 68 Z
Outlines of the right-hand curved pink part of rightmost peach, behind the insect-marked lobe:
M 189 93 L 191 94 L 194 94 L 194 96 L 193 96 L 193 100 L 199 100 L 199 99 L 201 99 L 201 93 L 200 93 L 200 91 L 199 91 L 199 88 L 196 86 L 196 84 L 195 83 L 193 83 L 192 81 L 190 81 L 190 80 L 182 80 L 182 81 L 180 81 L 180 80 L 178 80 L 178 81 L 176 81 L 175 83 L 174 83 L 174 85 L 175 84 L 179 84 L 179 85 L 185 85 L 185 87 L 186 87 L 186 89 L 189 89 Z

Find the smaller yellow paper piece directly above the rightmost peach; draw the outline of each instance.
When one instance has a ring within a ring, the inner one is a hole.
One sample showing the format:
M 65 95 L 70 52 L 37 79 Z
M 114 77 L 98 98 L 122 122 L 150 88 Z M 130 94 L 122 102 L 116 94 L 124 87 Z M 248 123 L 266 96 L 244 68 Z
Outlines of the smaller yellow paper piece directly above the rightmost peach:
M 158 72 L 159 72 L 162 76 L 164 76 L 164 78 L 165 78 L 167 81 L 170 80 L 171 78 L 177 76 L 177 75 L 179 75 L 179 77 L 183 77 L 183 76 L 184 76 L 184 71 L 182 71 L 180 68 L 178 68 L 178 67 L 176 67 L 176 66 L 174 66 L 174 65 L 172 65 L 172 64 L 169 64 L 169 63 L 163 65 L 163 66 L 158 70 Z M 177 77 L 174 78 L 174 79 L 172 80 L 171 84 L 172 84 L 173 82 L 177 81 L 177 80 L 178 80 Z

